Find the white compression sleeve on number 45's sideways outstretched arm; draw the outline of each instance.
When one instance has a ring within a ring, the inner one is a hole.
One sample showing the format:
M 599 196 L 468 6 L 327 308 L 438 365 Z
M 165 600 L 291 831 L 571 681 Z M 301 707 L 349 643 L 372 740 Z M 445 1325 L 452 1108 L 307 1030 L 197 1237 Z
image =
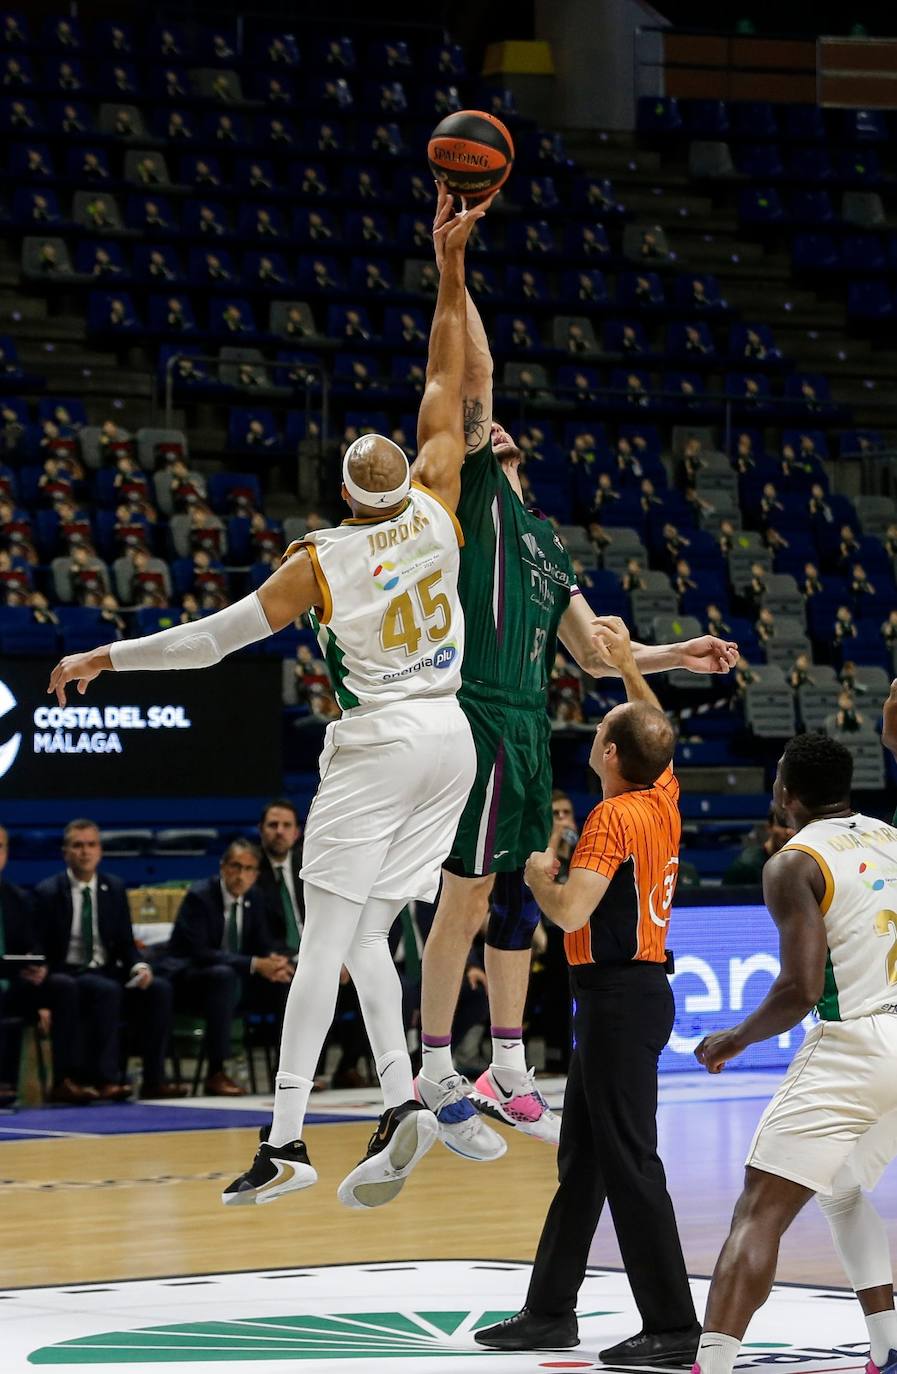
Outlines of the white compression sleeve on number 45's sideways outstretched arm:
M 143 639 L 120 639 L 110 649 L 117 673 L 165 668 L 210 668 L 225 654 L 272 635 L 258 592 L 205 620 L 173 625 Z

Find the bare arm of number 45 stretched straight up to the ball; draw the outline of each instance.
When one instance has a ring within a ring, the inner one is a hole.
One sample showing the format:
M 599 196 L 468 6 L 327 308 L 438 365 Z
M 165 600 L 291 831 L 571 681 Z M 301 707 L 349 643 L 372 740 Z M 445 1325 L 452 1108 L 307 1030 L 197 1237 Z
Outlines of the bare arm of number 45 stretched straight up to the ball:
M 412 474 L 434 491 L 452 510 L 462 493 L 464 429 L 462 382 L 464 379 L 464 337 L 467 330 L 467 291 L 464 287 L 464 247 L 486 205 L 462 214 L 451 214 L 444 202 L 437 212 L 434 240 L 441 245 L 442 271 L 435 298 L 427 382 L 418 414 L 418 460 Z

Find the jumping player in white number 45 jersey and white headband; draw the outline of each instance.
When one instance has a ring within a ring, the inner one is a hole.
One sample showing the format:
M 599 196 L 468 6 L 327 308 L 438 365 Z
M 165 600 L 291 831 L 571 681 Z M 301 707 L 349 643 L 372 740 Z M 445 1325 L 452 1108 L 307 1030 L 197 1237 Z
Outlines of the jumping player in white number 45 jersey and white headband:
M 305 926 L 283 1020 L 271 1128 L 225 1204 L 269 1202 L 317 1182 L 301 1139 L 315 1065 L 345 965 L 356 984 L 386 1110 L 364 1160 L 343 1180 L 348 1206 L 379 1206 L 438 1136 L 415 1101 L 401 987 L 387 936 L 407 901 L 433 900 L 473 783 L 474 745 L 456 701 L 464 650 L 457 598 L 464 456 L 464 247 L 486 206 L 440 231 L 440 279 L 413 482 L 402 451 L 365 436 L 343 459 L 352 519 L 291 545 L 251 596 L 195 624 L 122 640 L 56 665 L 59 701 L 104 669 L 202 668 L 309 611 L 342 719 L 326 735 L 321 782 L 305 831 Z M 251 723 L 247 723 L 251 728 Z M 503 1142 L 479 1118 L 470 1127 Z

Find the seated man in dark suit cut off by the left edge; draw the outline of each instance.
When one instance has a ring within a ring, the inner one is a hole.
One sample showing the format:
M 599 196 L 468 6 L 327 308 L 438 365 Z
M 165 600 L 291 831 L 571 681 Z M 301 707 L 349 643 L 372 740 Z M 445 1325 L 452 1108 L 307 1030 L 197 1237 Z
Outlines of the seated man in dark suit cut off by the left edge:
M 10 837 L 0 826 L 0 955 L 43 954 L 34 903 L 22 888 L 7 882 L 3 871 L 10 856 Z M 54 1011 L 58 1014 L 54 1021 Z M 45 963 L 10 965 L 0 977 L 0 1103 L 15 1101 L 22 1026 L 37 1024 L 43 1035 L 52 1028 L 54 1102 L 85 1106 L 96 1090 L 82 1087 L 70 1074 L 70 1047 L 59 1026 L 77 1014 L 74 988 L 67 978 L 47 973 Z

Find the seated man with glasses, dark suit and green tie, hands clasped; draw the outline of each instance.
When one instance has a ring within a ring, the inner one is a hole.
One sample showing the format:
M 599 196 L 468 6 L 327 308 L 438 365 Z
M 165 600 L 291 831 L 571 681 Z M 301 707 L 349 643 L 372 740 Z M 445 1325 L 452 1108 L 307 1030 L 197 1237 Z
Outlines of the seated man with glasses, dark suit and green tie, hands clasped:
M 275 952 L 265 903 L 250 892 L 260 860 L 258 848 L 249 840 L 228 845 L 220 874 L 195 882 L 184 896 L 161 963 L 172 973 L 179 1007 L 205 1017 L 210 1096 L 235 1098 L 243 1092 L 224 1066 L 238 1006 L 253 1006 L 261 988 L 286 991 L 293 978 L 287 956 Z

